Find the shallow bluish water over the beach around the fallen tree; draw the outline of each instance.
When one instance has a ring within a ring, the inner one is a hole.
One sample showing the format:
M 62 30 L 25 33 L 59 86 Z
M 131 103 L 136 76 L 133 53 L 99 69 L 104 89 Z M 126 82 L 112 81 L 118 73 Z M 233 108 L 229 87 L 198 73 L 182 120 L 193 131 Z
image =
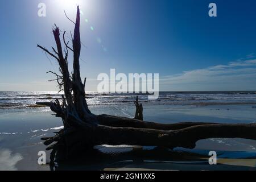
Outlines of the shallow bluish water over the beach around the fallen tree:
M 254 123 L 256 109 L 251 106 L 144 105 L 144 119 L 161 123 L 185 121 Z M 90 106 L 90 109 L 95 114 L 105 113 L 125 117 L 133 117 L 134 115 L 133 105 L 108 107 L 94 105 Z M 51 114 L 51 111 L 45 107 L 0 110 L 0 169 L 52 169 L 48 165 L 40 166 L 37 163 L 38 152 L 46 148 L 40 138 L 52 136 L 53 132 L 59 130 L 62 126 L 61 120 Z M 159 158 L 159 153 L 155 154 L 155 147 L 97 146 L 96 148 L 97 151 L 103 152 L 103 162 L 102 160 L 96 160 L 99 158 L 98 154 L 94 157 L 94 154 L 90 154 L 90 159 L 95 160 L 86 162 L 88 159 L 79 159 L 79 162 L 59 164 L 59 167 L 55 169 L 129 169 L 143 167 L 150 167 L 150 169 L 189 169 L 189 166 L 195 167 L 191 169 L 217 169 L 217 167 L 210 167 L 208 164 L 208 152 L 211 150 L 217 152 L 218 158 L 236 159 L 228 162 L 228 164 L 226 164 L 226 161 L 222 162 L 224 163 L 221 164 L 223 169 L 251 169 L 251 166 L 255 164 L 254 159 L 256 159 L 256 141 L 246 139 L 214 138 L 199 140 L 193 150 L 175 148 L 172 151 L 161 151 L 160 156 L 163 152 L 166 154 L 164 158 Z M 47 152 L 47 156 L 49 156 L 49 152 Z M 144 156 L 146 157 L 144 158 Z M 250 165 L 247 161 L 239 162 L 241 159 L 248 158 L 250 158 Z M 49 161 L 49 158 L 47 158 L 47 161 Z M 220 167 L 220 165 L 218 166 Z

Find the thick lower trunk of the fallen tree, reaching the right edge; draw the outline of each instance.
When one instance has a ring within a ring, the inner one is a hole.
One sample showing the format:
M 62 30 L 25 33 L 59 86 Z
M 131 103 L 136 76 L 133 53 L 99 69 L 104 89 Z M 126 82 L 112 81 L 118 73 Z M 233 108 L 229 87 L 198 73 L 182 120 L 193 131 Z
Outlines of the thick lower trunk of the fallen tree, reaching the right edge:
M 245 138 L 255 140 L 255 131 L 256 124 L 197 125 L 170 131 L 97 126 L 86 133 L 82 132 L 79 138 L 89 138 L 89 142 L 93 141 L 94 145 L 130 144 L 135 146 L 194 148 L 198 140 L 207 138 Z M 70 143 L 73 143 L 73 140 Z

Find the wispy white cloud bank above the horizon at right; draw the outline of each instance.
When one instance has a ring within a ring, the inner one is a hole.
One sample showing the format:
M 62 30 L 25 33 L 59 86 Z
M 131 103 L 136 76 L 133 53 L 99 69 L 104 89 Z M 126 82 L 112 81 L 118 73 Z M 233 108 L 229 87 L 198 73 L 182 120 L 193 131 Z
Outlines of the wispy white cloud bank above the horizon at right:
M 256 59 L 164 76 L 160 90 L 256 90 Z

